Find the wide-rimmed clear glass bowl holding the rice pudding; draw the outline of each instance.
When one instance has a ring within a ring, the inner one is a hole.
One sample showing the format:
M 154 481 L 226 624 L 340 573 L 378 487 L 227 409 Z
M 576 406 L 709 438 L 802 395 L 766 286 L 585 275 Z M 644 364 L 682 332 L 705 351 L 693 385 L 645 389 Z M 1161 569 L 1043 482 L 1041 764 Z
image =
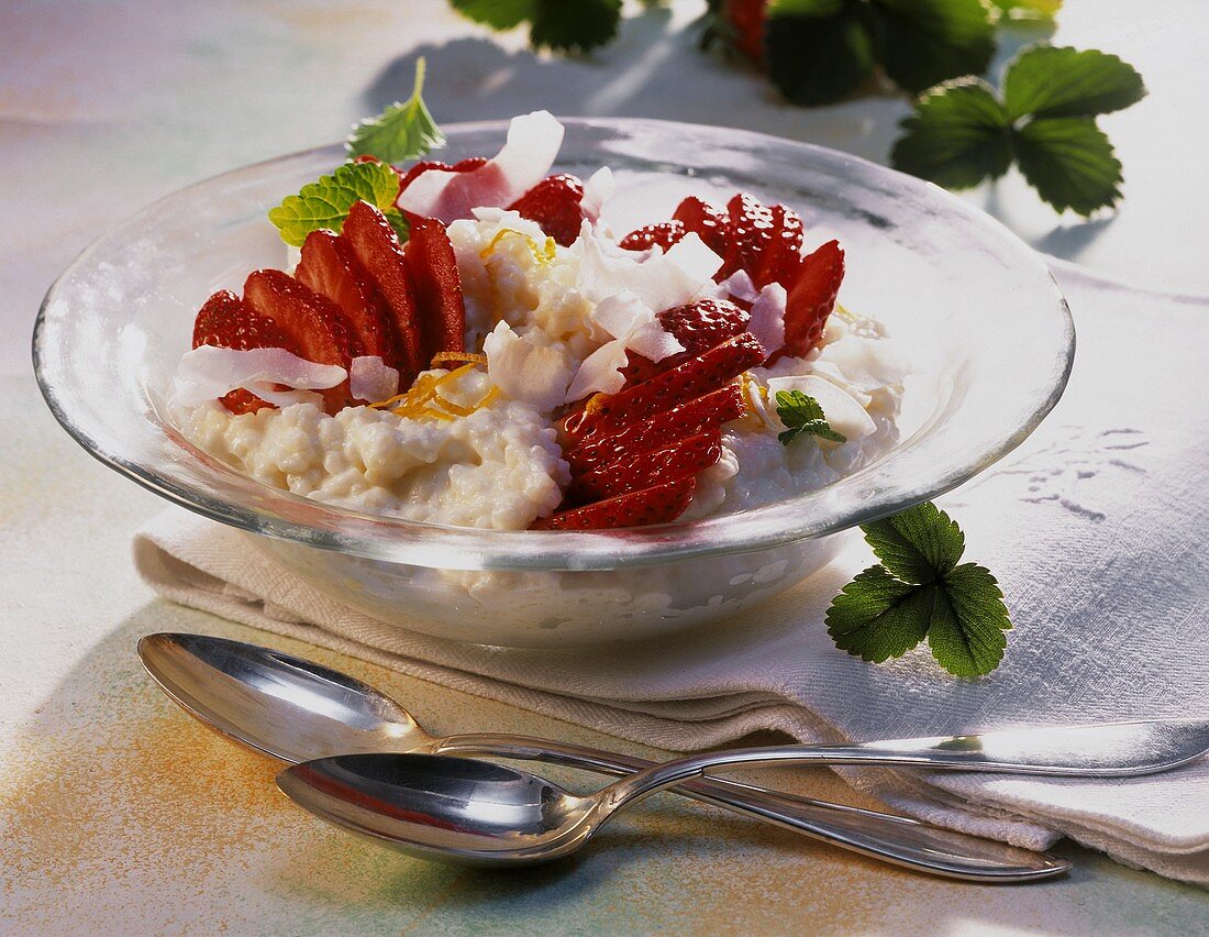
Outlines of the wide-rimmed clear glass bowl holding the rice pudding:
M 342 149 L 285 156 L 181 190 L 111 230 L 47 293 L 34 364 L 47 404 L 93 456 L 167 501 L 247 531 L 324 592 L 411 631 L 563 646 L 718 619 L 809 575 L 831 536 L 939 494 L 1017 446 L 1058 401 L 1074 329 L 1046 265 L 947 192 L 831 150 L 647 120 L 568 120 L 559 170 L 618 177 L 618 231 L 695 192 L 796 208 L 806 243 L 839 237 L 841 299 L 915 366 L 902 436 L 821 491 L 740 514 L 620 532 L 480 531 L 374 516 L 262 485 L 187 444 L 164 395 L 214 290 L 285 267 L 265 213 Z M 441 158 L 492 154 L 507 125 L 450 128 Z

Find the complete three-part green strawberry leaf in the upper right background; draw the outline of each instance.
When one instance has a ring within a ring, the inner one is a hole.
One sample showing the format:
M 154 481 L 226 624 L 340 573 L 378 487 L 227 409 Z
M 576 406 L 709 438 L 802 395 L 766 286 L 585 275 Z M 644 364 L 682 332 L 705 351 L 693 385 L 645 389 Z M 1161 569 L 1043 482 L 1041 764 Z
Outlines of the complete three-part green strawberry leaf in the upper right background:
M 1086 216 L 1115 206 L 1123 181 L 1095 117 L 1145 94 L 1141 76 L 1116 56 L 1032 46 L 1008 65 L 1001 93 L 966 77 L 922 94 L 890 160 L 949 189 L 997 179 L 1014 161 L 1055 210 Z

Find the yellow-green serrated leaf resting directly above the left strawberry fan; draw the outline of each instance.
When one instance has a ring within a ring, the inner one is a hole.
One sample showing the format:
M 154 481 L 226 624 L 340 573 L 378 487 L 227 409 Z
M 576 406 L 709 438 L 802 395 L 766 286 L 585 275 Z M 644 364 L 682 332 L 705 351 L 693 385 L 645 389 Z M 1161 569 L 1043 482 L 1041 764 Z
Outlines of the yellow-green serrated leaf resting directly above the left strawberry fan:
M 268 213 L 282 235 L 282 241 L 302 247 L 306 236 L 319 229 L 339 232 L 348 209 L 358 201 L 369 202 L 382 210 L 400 241 L 407 239 L 407 222 L 395 208 L 399 195 L 399 174 L 381 162 L 345 163 L 331 175 L 323 175 L 303 185 L 297 195 L 287 196 Z

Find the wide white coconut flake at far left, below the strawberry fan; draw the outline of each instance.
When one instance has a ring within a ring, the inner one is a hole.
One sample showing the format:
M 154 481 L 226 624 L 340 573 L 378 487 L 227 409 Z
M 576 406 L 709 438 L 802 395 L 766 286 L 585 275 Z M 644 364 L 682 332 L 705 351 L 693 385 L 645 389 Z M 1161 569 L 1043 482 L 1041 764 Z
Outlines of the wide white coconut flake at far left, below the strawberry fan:
M 216 348 L 203 345 L 185 352 L 173 381 L 173 401 L 180 406 L 199 406 L 208 400 L 243 388 L 277 406 L 313 403 L 318 394 L 348 377 L 335 364 L 316 364 L 284 348 Z M 278 391 L 285 384 L 293 391 Z

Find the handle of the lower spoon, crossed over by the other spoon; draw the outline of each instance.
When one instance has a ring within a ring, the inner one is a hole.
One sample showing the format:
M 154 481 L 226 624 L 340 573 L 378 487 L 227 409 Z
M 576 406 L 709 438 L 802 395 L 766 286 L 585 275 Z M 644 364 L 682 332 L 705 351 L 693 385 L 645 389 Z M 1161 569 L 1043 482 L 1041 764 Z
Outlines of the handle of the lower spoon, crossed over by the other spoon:
M 655 762 L 522 735 L 467 734 L 444 739 L 434 754 L 479 754 L 562 764 L 629 775 Z M 750 814 L 864 856 L 933 875 L 971 881 L 1028 881 L 1065 872 L 1070 863 L 1040 852 L 958 833 L 919 820 L 765 791 L 721 777 L 684 781 L 675 793 Z

